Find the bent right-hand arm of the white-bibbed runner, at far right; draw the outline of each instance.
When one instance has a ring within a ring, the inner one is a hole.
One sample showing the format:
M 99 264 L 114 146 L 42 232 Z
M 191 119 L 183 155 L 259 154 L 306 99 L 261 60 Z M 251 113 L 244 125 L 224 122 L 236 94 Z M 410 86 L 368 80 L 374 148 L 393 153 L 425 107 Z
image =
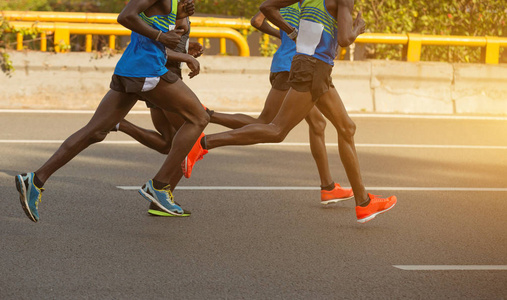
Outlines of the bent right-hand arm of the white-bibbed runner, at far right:
M 338 44 L 341 47 L 348 47 L 356 38 L 364 33 L 366 23 L 361 13 L 355 20 L 352 20 L 352 11 L 354 9 L 354 0 L 338 0 L 338 9 L 336 20 L 338 22 Z

